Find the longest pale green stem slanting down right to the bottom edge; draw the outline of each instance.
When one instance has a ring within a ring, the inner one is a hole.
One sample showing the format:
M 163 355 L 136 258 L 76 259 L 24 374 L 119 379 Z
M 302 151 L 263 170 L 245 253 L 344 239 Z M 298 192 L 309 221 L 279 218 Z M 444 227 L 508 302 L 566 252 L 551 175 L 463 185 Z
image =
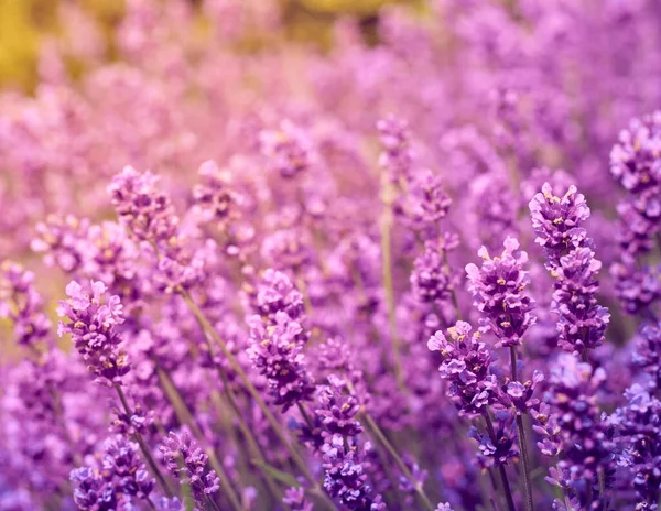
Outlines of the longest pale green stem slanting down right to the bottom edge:
M 193 315 L 195 316 L 197 322 L 201 324 L 203 331 L 206 331 L 208 335 L 212 336 L 214 341 L 220 348 L 220 351 L 223 351 L 223 355 L 227 358 L 228 362 L 231 366 L 231 369 L 241 379 L 243 385 L 246 387 L 246 390 L 248 391 L 250 396 L 254 400 L 254 402 L 257 403 L 257 405 L 259 406 L 261 412 L 264 414 L 264 417 L 267 418 L 271 428 L 278 436 L 278 439 L 280 439 L 282 445 L 290 453 L 292 461 L 299 468 L 299 470 L 301 470 L 301 474 L 307 480 L 307 482 L 310 482 L 310 485 L 312 486 L 311 491 L 314 492 L 315 494 L 318 494 L 319 498 L 322 498 L 324 500 L 324 502 L 328 509 L 335 509 L 335 504 L 328 498 L 328 496 L 326 496 L 323 491 L 321 491 L 318 483 L 315 481 L 315 479 L 310 474 L 307 465 L 305 464 L 305 461 L 303 460 L 303 458 L 301 457 L 299 452 L 290 444 L 290 442 L 286 438 L 286 436 L 284 435 L 284 433 L 282 433 L 280 423 L 278 422 L 275 416 L 271 413 L 271 411 L 267 406 L 267 403 L 263 401 L 259 391 L 254 388 L 254 385 L 252 384 L 252 382 L 246 374 L 246 371 L 243 371 L 243 368 L 241 368 L 240 363 L 237 361 L 236 357 L 231 354 L 231 351 L 229 351 L 229 349 L 227 349 L 227 345 L 225 344 L 225 341 L 220 338 L 220 336 L 218 335 L 216 329 L 209 324 L 209 322 L 207 320 L 207 318 L 205 317 L 203 312 L 199 309 L 197 304 L 193 301 L 191 295 L 183 289 L 178 290 L 178 292 L 180 292 L 181 296 L 184 298 L 184 301 L 186 302 L 186 304 L 188 305 L 188 308 L 191 309 L 191 312 L 193 313 Z

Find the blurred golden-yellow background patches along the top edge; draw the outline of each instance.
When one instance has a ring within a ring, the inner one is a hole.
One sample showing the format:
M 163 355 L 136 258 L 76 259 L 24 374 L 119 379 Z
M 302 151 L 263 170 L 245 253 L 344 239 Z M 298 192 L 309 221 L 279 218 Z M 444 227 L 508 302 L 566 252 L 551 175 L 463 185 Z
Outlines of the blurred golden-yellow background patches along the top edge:
M 388 3 L 415 4 L 416 0 L 280 0 L 280 3 L 282 36 L 324 47 L 330 40 L 330 25 L 338 17 L 357 17 L 366 37 L 375 40 L 379 9 Z M 123 0 L 0 0 L 0 87 L 34 88 L 40 44 L 61 35 L 63 10 L 72 7 L 91 17 L 108 35 L 106 57 L 112 58 L 109 34 L 121 19 Z M 259 44 L 260 34 L 253 37 L 245 43 Z M 68 65 L 74 74 L 83 67 L 77 62 Z

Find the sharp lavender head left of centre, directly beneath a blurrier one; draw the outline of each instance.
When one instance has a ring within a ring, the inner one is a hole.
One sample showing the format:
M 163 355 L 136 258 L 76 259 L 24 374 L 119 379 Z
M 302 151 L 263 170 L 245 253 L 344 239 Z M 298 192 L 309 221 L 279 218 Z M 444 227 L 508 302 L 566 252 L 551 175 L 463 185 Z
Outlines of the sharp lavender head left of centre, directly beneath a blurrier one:
M 284 312 L 275 314 L 273 324 L 264 325 L 260 316 L 252 316 L 248 325 L 248 357 L 267 378 L 273 402 L 286 411 L 296 402 L 310 400 L 314 382 L 304 365 L 301 325 Z

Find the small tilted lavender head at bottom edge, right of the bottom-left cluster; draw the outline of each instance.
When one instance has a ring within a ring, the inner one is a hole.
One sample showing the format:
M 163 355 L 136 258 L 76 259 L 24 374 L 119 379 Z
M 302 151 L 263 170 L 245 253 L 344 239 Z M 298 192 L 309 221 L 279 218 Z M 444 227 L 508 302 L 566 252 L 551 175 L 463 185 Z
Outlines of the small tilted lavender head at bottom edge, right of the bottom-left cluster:
M 170 432 L 159 447 L 167 469 L 182 485 L 188 485 L 195 502 L 206 505 L 208 496 L 220 488 L 220 480 L 214 470 L 206 469 L 208 456 L 199 448 L 187 431 Z

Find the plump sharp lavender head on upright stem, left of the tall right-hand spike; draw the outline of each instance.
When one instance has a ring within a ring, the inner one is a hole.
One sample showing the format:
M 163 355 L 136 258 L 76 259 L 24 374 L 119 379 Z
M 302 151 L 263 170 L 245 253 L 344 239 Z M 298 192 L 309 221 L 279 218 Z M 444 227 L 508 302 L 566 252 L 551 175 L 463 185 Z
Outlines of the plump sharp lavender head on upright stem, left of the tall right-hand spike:
M 514 238 L 507 238 L 503 246 L 502 254 L 494 259 L 483 247 L 478 252 L 484 259 L 481 268 L 466 265 L 468 287 L 474 305 L 483 313 L 483 328 L 498 337 L 497 346 L 521 346 L 521 337 L 535 323 L 530 314 L 534 301 L 523 294 L 530 282 L 523 269 L 528 253 L 519 250 Z

